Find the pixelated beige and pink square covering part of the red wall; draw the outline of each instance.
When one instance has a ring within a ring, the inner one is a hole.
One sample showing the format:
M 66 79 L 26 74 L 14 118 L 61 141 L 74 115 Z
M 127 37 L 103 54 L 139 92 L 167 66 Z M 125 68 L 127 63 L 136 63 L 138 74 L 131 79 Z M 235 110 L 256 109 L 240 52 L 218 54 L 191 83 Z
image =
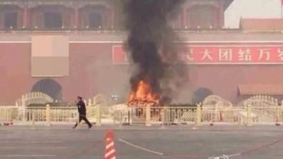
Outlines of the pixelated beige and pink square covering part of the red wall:
M 69 37 L 35 35 L 32 37 L 31 76 L 69 75 Z

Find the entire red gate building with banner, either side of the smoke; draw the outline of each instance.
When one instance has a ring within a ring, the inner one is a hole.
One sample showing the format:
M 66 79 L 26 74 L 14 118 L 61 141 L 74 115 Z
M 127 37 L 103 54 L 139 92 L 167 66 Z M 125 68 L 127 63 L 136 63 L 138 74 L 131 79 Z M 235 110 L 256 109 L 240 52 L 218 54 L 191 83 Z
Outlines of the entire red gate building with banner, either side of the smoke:
M 231 102 L 283 95 L 283 20 L 224 27 L 233 0 L 187 0 L 169 17 L 190 76 L 177 102 L 213 93 Z M 127 32 L 115 0 L 0 1 L 0 101 L 30 91 L 61 101 L 129 93 Z M 196 94 L 200 93 L 200 94 Z

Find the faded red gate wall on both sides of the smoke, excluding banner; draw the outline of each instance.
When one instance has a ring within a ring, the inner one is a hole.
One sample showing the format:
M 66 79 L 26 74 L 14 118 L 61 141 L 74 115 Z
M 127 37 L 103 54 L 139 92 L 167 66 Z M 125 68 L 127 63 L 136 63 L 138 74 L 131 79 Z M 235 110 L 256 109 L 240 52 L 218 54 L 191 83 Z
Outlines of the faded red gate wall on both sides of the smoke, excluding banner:
M 30 43 L 0 44 L 0 104 L 13 105 L 43 79 L 30 76 Z M 76 95 L 91 98 L 97 93 L 127 96 L 129 69 L 112 64 L 112 44 L 70 44 L 69 76 L 52 78 L 63 90 L 64 101 Z M 246 83 L 282 83 L 282 65 L 195 65 L 188 66 L 190 101 L 197 88 L 209 88 L 216 95 L 236 102 L 238 85 Z

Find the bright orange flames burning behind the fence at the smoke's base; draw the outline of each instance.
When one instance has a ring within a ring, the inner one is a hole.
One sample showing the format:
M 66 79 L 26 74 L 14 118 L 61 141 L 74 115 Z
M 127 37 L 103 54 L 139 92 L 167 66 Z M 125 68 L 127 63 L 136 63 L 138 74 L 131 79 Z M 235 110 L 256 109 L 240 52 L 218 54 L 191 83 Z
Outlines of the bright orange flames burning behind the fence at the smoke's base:
M 129 106 L 157 106 L 159 104 L 159 96 L 152 93 L 149 83 L 139 81 L 137 90 L 132 90 L 129 95 Z

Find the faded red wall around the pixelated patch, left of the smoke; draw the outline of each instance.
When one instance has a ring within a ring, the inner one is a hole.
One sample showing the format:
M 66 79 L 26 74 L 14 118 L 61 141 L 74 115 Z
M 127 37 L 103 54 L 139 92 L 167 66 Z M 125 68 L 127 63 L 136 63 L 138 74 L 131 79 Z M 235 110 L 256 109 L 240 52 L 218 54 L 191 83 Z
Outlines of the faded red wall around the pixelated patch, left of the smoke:
M 120 73 L 122 68 L 112 65 L 111 46 L 112 44 L 70 45 L 69 76 L 52 78 L 62 86 L 65 101 L 73 101 L 77 95 L 91 98 L 96 93 L 107 93 L 104 90 L 112 89 L 112 93 L 117 93 L 115 84 L 125 87 L 117 82 L 125 83 L 127 77 Z M 30 76 L 30 43 L 2 43 L 0 50 L 0 104 L 13 105 L 21 95 L 30 92 L 37 81 L 44 78 Z M 105 83 L 109 84 L 103 86 Z

